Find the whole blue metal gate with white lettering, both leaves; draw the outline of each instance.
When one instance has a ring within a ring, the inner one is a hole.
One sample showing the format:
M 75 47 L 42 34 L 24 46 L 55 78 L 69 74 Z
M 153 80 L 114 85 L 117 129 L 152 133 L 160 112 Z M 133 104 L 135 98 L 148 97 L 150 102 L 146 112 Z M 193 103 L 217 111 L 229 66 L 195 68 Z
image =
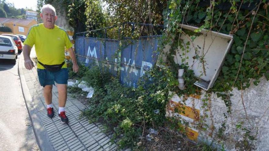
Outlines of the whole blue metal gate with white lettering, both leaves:
M 139 40 L 126 38 L 125 40 L 131 41 L 131 44 L 118 52 L 117 40 L 77 36 L 76 54 L 79 61 L 85 63 L 87 67 L 105 65 L 114 76 L 120 71 L 120 81 L 123 85 L 137 87 L 139 77 L 157 61 L 158 37 L 145 37 Z M 117 66 L 119 61 L 120 67 Z

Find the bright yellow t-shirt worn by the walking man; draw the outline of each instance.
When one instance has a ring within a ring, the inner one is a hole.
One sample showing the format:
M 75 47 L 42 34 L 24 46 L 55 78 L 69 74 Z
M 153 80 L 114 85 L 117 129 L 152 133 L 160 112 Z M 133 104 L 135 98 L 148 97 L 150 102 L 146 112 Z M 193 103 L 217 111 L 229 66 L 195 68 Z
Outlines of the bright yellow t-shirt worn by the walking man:
M 66 49 L 72 47 L 72 43 L 64 29 L 56 25 L 53 29 L 48 29 L 44 27 L 43 23 L 30 28 L 24 45 L 31 47 L 35 45 L 38 61 L 46 65 L 56 65 L 64 62 L 64 47 Z M 39 63 L 37 68 L 44 69 Z M 62 68 L 67 68 L 66 63 Z

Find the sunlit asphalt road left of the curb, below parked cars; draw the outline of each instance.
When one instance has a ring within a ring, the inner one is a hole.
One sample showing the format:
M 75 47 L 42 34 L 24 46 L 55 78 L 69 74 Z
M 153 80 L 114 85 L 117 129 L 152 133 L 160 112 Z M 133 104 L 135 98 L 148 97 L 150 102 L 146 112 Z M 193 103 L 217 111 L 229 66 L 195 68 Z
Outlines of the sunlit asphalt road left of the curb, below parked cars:
M 25 106 L 18 62 L 0 59 L 0 151 L 39 150 Z

